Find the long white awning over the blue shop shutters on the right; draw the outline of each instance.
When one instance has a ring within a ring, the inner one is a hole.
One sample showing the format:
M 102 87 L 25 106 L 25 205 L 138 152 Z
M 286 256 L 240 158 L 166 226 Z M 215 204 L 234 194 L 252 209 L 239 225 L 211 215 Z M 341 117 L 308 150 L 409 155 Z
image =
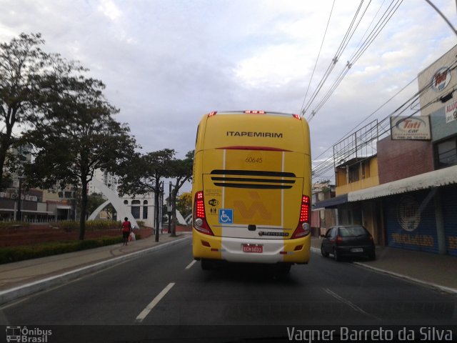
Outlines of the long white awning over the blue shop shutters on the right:
M 457 184 L 457 166 L 449 166 L 448 168 L 388 182 L 387 184 L 380 184 L 379 186 L 349 192 L 348 201 L 360 202 L 361 200 L 386 197 L 391 194 L 446 186 L 446 184 Z

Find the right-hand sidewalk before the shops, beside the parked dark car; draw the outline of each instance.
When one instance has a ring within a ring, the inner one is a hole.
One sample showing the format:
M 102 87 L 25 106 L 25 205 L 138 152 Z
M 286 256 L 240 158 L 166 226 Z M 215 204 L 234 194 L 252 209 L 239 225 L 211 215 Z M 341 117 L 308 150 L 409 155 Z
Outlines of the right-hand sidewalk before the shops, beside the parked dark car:
M 321 255 L 321 239 L 313 237 L 311 249 Z M 376 246 L 375 261 L 353 264 L 457 294 L 457 257 Z

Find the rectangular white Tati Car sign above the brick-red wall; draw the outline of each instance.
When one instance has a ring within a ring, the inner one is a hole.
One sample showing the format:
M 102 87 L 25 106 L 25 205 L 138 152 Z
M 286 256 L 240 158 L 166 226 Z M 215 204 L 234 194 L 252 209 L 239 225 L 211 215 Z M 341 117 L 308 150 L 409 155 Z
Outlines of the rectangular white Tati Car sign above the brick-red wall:
M 391 136 L 392 139 L 431 139 L 428 116 L 391 116 Z

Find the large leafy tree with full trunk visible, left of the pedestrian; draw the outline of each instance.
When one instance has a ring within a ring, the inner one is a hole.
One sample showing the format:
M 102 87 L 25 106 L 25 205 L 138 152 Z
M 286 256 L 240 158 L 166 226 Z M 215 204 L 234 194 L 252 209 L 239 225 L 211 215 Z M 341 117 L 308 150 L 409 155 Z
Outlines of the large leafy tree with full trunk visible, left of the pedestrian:
M 36 148 L 34 164 L 25 169 L 28 182 L 45 189 L 56 184 L 81 189 L 81 240 L 86 231 L 87 186 L 95 170 L 117 172 L 137 147 L 129 127 L 114 120 L 119 110 L 104 99 L 104 87 L 83 75 L 62 77 L 46 94 L 44 115 L 25 135 Z

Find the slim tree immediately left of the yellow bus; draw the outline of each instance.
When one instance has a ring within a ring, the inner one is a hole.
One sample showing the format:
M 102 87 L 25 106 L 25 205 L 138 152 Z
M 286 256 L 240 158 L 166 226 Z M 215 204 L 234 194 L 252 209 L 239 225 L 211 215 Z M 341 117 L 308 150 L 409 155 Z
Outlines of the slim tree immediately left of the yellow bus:
M 170 161 L 170 177 L 176 180 L 174 187 L 171 187 L 171 236 L 176 236 L 176 197 L 179 189 L 192 178 L 193 165 L 194 150 L 188 151 L 185 159 Z

